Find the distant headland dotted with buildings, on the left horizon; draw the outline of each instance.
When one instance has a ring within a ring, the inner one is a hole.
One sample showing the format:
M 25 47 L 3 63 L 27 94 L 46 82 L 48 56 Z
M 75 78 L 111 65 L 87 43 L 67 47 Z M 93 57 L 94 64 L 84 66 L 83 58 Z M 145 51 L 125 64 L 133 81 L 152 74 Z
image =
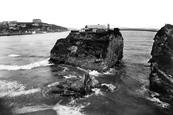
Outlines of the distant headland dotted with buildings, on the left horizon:
M 68 29 L 54 24 L 44 23 L 41 19 L 33 19 L 32 22 L 0 22 L 0 36 L 41 34 L 63 31 L 68 31 Z

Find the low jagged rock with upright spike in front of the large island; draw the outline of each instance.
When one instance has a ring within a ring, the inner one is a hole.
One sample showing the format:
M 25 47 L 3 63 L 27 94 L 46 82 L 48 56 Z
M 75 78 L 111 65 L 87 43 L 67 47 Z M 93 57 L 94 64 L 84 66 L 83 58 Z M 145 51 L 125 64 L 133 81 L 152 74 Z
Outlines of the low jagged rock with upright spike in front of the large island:
M 99 81 L 88 73 L 85 73 L 82 78 L 72 78 L 63 82 L 58 82 L 55 86 L 56 87 L 52 88 L 51 93 L 76 98 L 92 93 L 92 88 L 101 87 Z

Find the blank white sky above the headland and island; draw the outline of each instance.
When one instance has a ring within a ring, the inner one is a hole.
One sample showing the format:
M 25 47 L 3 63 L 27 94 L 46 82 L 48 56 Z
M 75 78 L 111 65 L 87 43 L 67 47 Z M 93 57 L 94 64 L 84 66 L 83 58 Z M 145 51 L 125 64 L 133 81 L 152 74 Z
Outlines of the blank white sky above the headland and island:
M 88 24 L 160 28 L 173 24 L 172 0 L 0 0 L 0 22 L 42 22 L 69 28 Z

